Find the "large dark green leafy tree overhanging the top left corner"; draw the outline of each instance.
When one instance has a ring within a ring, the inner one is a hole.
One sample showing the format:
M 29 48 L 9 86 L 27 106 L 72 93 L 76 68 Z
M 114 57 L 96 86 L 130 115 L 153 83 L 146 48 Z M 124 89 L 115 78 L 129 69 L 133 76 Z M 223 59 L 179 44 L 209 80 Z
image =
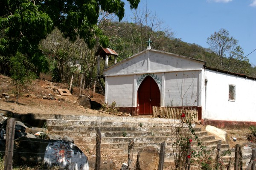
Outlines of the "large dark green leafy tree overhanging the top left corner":
M 140 3 L 140 0 L 127 1 L 131 8 L 137 8 Z M 11 56 L 20 51 L 37 74 L 47 70 L 46 57 L 38 44 L 55 27 L 71 41 L 80 37 L 93 48 L 99 38 L 100 44 L 106 47 L 108 37 L 97 27 L 101 10 L 121 20 L 124 6 L 122 0 L 1 0 L 0 59 L 10 63 Z M 0 65 L 0 71 L 6 70 L 6 66 L 9 68 L 9 65 Z

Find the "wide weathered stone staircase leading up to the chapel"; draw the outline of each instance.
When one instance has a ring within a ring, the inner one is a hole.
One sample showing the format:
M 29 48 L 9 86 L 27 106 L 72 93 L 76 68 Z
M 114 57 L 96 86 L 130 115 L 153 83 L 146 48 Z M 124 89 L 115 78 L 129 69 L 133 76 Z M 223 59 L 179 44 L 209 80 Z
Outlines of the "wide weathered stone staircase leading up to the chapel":
M 67 135 L 75 139 L 75 144 L 84 150 L 94 150 L 96 147 L 96 130 L 101 130 L 101 153 L 108 155 L 108 159 L 117 159 L 127 162 L 128 142 L 134 140 L 134 161 L 137 153 L 143 147 L 151 145 L 160 151 L 160 144 L 166 142 L 165 166 L 174 161 L 172 135 L 175 127 L 180 126 L 179 120 L 160 119 L 152 117 L 131 116 L 75 116 L 32 114 L 36 122 L 46 122 L 48 130 L 59 135 Z M 201 127 L 194 127 L 195 132 L 203 143 L 210 147 L 217 147 L 221 140 L 215 139 Z M 195 141 L 193 139 L 193 141 Z M 196 142 L 192 142 L 195 150 Z M 222 152 L 229 149 L 228 144 L 221 144 Z

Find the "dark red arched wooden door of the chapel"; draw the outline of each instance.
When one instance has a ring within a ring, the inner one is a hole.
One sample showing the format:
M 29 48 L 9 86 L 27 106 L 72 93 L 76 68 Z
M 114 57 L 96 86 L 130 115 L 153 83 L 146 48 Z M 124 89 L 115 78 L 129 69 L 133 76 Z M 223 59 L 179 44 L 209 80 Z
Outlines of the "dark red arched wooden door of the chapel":
M 139 115 L 152 115 L 152 106 L 160 106 L 160 90 L 151 76 L 145 77 L 138 89 Z

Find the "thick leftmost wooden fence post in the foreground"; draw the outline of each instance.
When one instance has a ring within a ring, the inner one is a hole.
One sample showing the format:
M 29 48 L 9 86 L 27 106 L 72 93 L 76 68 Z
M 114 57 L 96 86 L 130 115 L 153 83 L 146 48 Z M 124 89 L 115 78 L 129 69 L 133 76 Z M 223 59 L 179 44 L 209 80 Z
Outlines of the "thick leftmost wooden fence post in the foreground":
M 15 118 L 9 118 L 6 125 L 6 150 L 4 158 L 4 170 L 12 170 L 12 157 L 15 133 Z

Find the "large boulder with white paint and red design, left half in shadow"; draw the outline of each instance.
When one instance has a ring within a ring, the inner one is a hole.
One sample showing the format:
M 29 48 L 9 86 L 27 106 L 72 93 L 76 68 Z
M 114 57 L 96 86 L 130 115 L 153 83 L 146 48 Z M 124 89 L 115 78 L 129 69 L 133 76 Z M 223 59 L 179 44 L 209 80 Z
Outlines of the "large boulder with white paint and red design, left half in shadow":
M 87 156 L 72 142 L 21 137 L 15 141 L 14 164 L 38 164 L 65 170 L 89 170 Z

